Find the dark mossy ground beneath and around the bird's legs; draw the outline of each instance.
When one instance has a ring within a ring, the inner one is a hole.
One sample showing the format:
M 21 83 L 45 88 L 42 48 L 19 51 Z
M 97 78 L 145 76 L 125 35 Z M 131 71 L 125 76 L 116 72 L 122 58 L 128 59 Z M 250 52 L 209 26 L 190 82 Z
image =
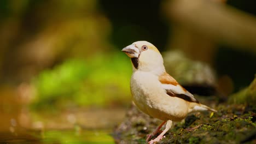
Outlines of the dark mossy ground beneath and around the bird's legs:
M 189 115 L 185 123 L 174 123 L 158 143 L 255 143 L 256 106 L 219 104 L 218 112 Z M 147 134 L 161 121 L 149 117 L 135 106 L 114 131 L 117 143 L 146 143 Z

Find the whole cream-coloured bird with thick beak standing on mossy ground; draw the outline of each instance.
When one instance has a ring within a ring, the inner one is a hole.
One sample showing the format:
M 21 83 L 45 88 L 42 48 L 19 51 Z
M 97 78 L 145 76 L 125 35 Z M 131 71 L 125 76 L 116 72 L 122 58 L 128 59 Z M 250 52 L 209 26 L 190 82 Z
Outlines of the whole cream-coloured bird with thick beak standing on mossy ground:
M 200 104 L 193 94 L 166 73 L 161 53 L 153 44 L 148 41 L 136 41 L 122 51 L 132 62 L 130 88 L 135 105 L 147 115 L 164 121 L 148 135 L 149 144 L 160 141 L 172 127 L 172 121 L 181 121 L 188 113 L 207 110 L 217 112 Z M 164 131 L 150 140 L 165 123 Z

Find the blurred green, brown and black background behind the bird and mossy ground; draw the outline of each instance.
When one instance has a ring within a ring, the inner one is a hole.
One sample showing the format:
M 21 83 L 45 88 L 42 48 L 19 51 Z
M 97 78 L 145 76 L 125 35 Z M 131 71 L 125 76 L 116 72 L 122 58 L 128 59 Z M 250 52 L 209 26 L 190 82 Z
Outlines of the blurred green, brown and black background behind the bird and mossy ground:
M 120 50 L 138 40 L 158 47 L 186 88 L 228 98 L 256 73 L 255 5 L 0 1 L 0 141 L 114 143 L 131 105 L 132 68 Z

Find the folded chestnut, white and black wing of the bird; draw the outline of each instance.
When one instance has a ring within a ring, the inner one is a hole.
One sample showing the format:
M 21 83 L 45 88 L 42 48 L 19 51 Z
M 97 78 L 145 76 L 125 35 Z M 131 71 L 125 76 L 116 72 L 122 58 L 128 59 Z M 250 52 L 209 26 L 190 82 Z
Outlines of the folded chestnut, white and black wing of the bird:
M 166 93 L 171 97 L 178 97 L 187 101 L 199 103 L 194 95 L 183 88 L 179 83 L 169 74 L 164 73 L 159 76 L 159 81 L 162 83 L 162 88 L 166 90 Z

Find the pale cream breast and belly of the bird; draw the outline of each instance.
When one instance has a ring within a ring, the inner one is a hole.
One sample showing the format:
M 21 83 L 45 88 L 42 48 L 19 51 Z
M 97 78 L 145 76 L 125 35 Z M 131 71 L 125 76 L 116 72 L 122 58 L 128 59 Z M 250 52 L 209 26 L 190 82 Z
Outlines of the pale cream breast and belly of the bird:
M 134 71 L 131 77 L 133 101 L 144 113 L 162 120 L 179 121 L 188 113 L 186 101 L 170 97 L 162 88 L 158 76 L 146 71 Z

